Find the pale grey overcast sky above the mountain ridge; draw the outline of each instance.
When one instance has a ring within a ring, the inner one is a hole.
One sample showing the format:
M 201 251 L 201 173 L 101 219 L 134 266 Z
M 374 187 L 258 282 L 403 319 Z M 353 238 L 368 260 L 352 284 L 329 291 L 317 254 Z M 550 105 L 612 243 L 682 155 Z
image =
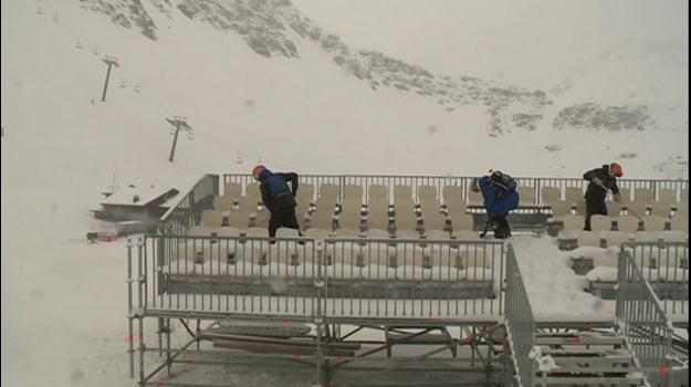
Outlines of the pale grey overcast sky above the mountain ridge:
M 345 43 L 548 88 L 624 39 L 688 56 L 688 0 L 293 0 Z

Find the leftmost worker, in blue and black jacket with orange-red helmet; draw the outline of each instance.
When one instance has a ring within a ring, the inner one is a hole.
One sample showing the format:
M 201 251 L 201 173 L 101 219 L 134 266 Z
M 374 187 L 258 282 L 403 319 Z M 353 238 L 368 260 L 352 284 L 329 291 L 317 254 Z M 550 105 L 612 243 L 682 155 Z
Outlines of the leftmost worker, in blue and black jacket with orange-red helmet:
M 262 192 L 262 201 L 271 213 L 269 237 L 274 238 L 276 230 L 281 227 L 296 229 L 300 232 L 295 217 L 297 174 L 273 174 L 263 165 L 258 165 L 252 169 L 252 176 L 260 181 L 259 189 Z

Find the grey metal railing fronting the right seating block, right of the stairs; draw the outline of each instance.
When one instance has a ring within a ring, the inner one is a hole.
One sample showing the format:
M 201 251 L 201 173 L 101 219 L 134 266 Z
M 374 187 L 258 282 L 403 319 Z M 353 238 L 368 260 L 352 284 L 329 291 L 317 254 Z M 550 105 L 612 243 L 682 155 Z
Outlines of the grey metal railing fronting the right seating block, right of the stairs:
M 651 284 L 671 320 L 689 314 L 689 242 L 627 242 L 622 245 Z

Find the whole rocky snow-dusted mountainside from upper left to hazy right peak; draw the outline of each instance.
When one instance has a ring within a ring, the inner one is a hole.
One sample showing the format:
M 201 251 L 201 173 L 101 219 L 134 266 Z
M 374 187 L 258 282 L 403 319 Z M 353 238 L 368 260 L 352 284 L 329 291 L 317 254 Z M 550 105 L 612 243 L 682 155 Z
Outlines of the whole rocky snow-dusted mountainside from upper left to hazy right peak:
M 118 2 L 113 3 L 118 4 Z M 101 2 L 96 2 L 96 4 L 101 4 Z M 185 21 L 182 19 L 198 21 L 201 24 L 210 24 L 216 30 L 227 32 L 231 39 L 240 38 L 260 55 L 290 57 L 300 62 L 301 65 L 305 64 L 303 62 L 307 62 L 306 59 L 311 54 L 323 57 L 326 53 L 334 60 L 335 64 L 342 66 L 346 74 L 367 82 L 374 90 L 388 87 L 401 92 L 415 92 L 418 95 L 433 98 L 448 114 L 453 114 L 458 109 L 467 112 L 468 106 L 471 106 L 473 112 L 482 111 L 484 118 L 481 121 L 471 118 L 472 125 L 475 129 L 478 126 L 485 128 L 492 137 L 512 132 L 522 136 L 525 132 L 537 128 L 542 128 L 542 132 L 549 137 L 563 137 L 563 134 L 558 132 L 564 128 L 609 130 L 662 128 L 663 132 L 673 130 L 674 133 L 658 134 L 656 137 L 666 137 L 662 143 L 674 144 L 672 138 L 677 134 L 684 135 L 688 132 L 688 124 L 684 124 L 688 116 L 688 108 L 683 108 L 685 106 L 683 104 L 684 86 L 679 82 L 667 82 L 677 75 L 688 79 L 688 67 L 683 67 L 683 59 L 679 55 L 680 48 L 656 49 L 656 46 L 638 44 L 634 40 L 624 41 L 600 55 L 596 61 L 597 65 L 591 65 L 589 71 L 583 70 L 580 75 L 576 74 L 578 76 L 574 75 L 563 82 L 561 86 L 554 87 L 555 96 L 552 97 L 541 91 L 530 92 L 505 87 L 492 81 L 469 76 L 436 75 L 422 67 L 407 64 L 378 52 L 353 49 L 342 42 L 337 35 L 327 33 L 304 17 L 290 1 L 248 1 L 247 3 L 239 1 L 160 3 L 154 1 L 137 3 L 137 7 L 130 12 L 118 13 L 102 9 L 103 7 L 94 7 L 85 0 L 83 8 L 109 15 L 114 21 L 126 19 L 126 15 L 129 14 L 129 19 L 133 20 L 130 23 L 134 25 L 133 30 L 140 30 L 147 36 L 149 35 L 147 28 L 156 29 L 156 25 L 159 25 L 159 30 L 164 27 L 179 30 L 178 24 Z M 147 8 L 149 9 L 148 13 Z M 121 9 L 127 11 L 125 7 L 121 6 Z M 153 21 L 145 27 L 137 28 L 136 22 L 140 20 L 140 14 L 151 15 Z M 149 36 L 149 39 L 156 40 L 158 38 Z M 660 59 L 660 55 L 671 60 Z M 630 60 L 631 57 L 636 60 Z M 622 61 L 627 65 L 622 65 Z M 639 63 L 641 61 L 647 63 L 647 67 L 641 67 L 642 65 Z M 677 67 L 660 69 L 660 72 L 653 72 L 653 70 L 658 70 L 655 69 L 656 61 L 669 62 Z M 590 75 L 585 76 L 586 73 Z M 647 98 L 631 98 L 630 96 L 637 95 L 637 93 L 641 96 L 645 94 L 640 92 L 643 90 L 640 82 L 631 82 L 631 77 L 639 80 L 641 74 L 647 76 L 649 84 L 652 85 L 646 86 L 646 90 L 658 90 L 659 92 L 657 95 L 646 94 Z M 574 86 L 576 79 L 578 82 Z M 565 90 L 569 90 L 569 93 L 563 96 Z M 610 97 L 613 94 L 627 95 L 628 97 Z M 661 95 L 663 95 L 662 98 L 672 100 L 674 103 L 672 105 L 664 103 L 660 98 Z M 554 103 L 551 101 L 552 98 L 554 98 Z M 480 106 L 482 109 L 478 108 Z M 463 117 L 465 114 L 461 114 L 461 119 L 453 116 L 449 117 L 449 121 L 453 123 L 452 125 L 465 126 L 463 125 Z M 430 123 L 427 126 L 431 128 L 429 133 L 441 132 L 437 130 L 439 128 L 438 123 Z M 551 129 L 556 129 L 556 132 Z M 588 134 L 587 136 L 591 135 Z M 638 136 L 646 137 L 648 134 L 639 134 Z M 649 154 L 647 149 L 632 150 L 626 146 L 620 146 L 618 143 L 620 140 L 615 138 L 598 149 L 597 154 L 607 154 L 610 157 L 634 154 L 638 156 L 640 153 Z M 495 144 L 490 144 L 493 148 L 496 147 Z M 551 163 L 549 168 L 552 170 L 558 172 L 568 168 L 567 158 L 559 157 L 555 151 L 546 150 L 546 148 L 564 148 L 564 144 L 543 143 L 534 145 L 538 149 L 537 151 L 546 153 L 546 157 L 557 159 L 556 163 Z M 499 147 L 501 148 L 501 145 Z M 669 145 L 660 144 L 660 147 L 667 147 L 664 151 L 670 153 Z M 680 148 L 679 143 L 677 143 L 677 148 L 679 150 L 672 148 L 671 156 L 666 155 L 664 157 L 666 159 L 668 157 L 673 159 L 669 168 L 651 168 L 650 156 L 643 155 L 640 165 L 635 163 L 635 170 L 643 168 L 655 170 L 656 174 L 666 171 L 667 176 L 683 174 L 685 170 L 683 163 L 688 159 L 688 151 Z M 459 150 L 462 151 L 462 148 Z M 498 149 L 498 151 L 502 151 L 502 149 Z M 656 161 L 658 166 L 668 165 L 667 161 Z M 545 165 L 544 163 L 538 164 Z M 648 167 L 645 167 L 646 164 Z M 670 170 L 667 171 L 668 169 Z

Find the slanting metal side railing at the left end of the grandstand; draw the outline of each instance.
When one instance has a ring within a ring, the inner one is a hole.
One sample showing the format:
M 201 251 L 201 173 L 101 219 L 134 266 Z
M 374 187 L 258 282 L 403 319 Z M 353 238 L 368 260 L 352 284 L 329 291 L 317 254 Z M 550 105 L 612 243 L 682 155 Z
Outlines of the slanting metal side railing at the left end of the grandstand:
M 158 233 L 182 236 L 199 224 L 201 211 L 213 208 L 213 197 L 219 195 L 219 176 L 202 176 L 192 189 L 181 197 L 160 218 Z

